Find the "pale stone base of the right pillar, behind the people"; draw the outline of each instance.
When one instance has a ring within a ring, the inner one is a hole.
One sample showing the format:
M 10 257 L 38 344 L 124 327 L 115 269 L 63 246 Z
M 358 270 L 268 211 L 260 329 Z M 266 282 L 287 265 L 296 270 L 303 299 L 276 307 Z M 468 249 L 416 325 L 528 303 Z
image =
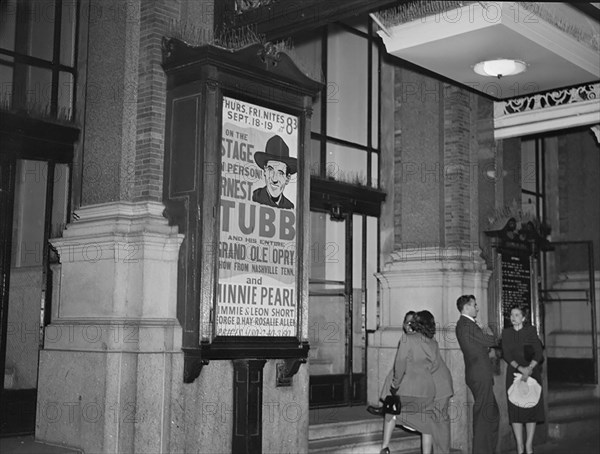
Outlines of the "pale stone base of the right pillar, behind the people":
M 431 248 L 393 253 L 392 262 L 377 275 L 382 295 L 380 326 L 369 338 L 367 395 L 369 402 L 377 402 L 383 380 L 393 365 L 404 314 L 409 310 L 430 311 L 436 319 L 436 340 L 454 384 L 450 402 L 452 448 L 466 453 L 472 443 L 472 396 L 465 383 L 464 359 L 454 331 L 459 317 L 456 300 L 461 295 L 475 295 L 479 314 L 487 322 L 491 271 L 478 250 L 445 252 Z

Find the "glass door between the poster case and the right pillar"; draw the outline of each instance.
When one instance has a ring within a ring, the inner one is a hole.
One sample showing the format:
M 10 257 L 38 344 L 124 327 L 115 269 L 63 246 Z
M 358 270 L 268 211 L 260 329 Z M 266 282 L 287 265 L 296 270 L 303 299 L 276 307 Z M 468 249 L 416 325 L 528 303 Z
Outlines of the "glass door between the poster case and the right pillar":
M 366 337 L 363 216 L 311 212 L 310 406 L 363 404 Z

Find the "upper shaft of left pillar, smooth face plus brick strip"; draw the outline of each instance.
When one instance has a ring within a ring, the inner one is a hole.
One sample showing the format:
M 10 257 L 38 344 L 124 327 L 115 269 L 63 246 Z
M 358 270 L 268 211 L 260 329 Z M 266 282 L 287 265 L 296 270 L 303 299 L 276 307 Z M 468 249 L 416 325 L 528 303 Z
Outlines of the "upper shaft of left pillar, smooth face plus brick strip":
M 192 26 L 210 37 L 213 10 L 208 0 L 91 0 L 81 205 L 162 200 L 161 40 Z

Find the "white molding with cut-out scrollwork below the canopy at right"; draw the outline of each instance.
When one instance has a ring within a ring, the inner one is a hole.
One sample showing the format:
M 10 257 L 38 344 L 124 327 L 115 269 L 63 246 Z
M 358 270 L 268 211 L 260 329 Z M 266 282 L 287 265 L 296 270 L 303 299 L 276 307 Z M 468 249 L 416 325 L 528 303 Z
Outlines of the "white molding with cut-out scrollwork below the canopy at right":
M 600 123 L 600 83 L 494 103 L 494 137 L 505 139 Z

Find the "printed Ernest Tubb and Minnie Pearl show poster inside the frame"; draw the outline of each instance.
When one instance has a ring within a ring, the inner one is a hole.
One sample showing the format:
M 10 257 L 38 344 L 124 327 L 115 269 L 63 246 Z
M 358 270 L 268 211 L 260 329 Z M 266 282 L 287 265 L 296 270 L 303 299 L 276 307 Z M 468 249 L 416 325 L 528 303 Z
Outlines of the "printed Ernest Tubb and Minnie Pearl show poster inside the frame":
M 296 336 L 298 117 L 223 97 L 217 336 Z

